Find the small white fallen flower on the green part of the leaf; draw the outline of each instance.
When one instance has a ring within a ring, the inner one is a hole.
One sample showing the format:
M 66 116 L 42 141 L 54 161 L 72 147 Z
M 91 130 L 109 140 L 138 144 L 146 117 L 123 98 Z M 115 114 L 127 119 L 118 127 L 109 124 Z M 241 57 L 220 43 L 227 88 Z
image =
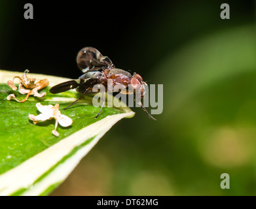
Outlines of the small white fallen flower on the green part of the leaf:
M 58 127 L 58 123 L 63 127 L 67 127 L 73 123 L 71 118 L 64 116 L 60 113 L 59 104 L 57 103 L 55 106 L 52 105 L 41 105 L 41 103 L 37 103 L 37 109 L 41 112 L 38 116 L 34 116 L 33 114 L 29 114 L 28 117 L 30 120 L 33 120 L 34 124 L 37 124 L 39 121 L 50 120 L 54 118 L 56 120 L 55 129 L 52 130 L 52 134 L 56 137 L 59 137 L 59 133 L 56 131 Z

